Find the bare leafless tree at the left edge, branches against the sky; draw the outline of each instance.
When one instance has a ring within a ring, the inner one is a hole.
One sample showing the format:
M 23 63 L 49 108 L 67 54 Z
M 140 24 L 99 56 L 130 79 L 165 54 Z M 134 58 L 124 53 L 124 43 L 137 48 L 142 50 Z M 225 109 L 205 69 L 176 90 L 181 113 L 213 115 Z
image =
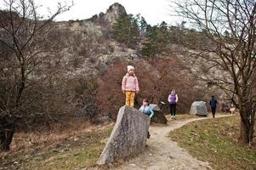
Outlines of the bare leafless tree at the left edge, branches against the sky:
M 54 37 L 52 21 L 71 6 L 58 3 L 56 12 L 43 20 L 33 0 L 3 3 L 6 9 L 0 10 L 0 138 L 1 148 L 9 150 L 17 119 L 32 113 L 26 110 L 33 101 L 25 92 L 37 82 L 33 73 L 54 50 L 54 41 L 50 40 Z

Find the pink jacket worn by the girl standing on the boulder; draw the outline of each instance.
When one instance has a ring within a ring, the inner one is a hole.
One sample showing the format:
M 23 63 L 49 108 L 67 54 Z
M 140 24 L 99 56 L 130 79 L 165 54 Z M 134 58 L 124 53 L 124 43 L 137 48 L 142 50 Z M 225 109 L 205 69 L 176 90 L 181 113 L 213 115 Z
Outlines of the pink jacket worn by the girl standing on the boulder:
M 136 76 L 129 76 L 128 73 L 122 78 L 122 91 L 139 92 L 139 82 Z

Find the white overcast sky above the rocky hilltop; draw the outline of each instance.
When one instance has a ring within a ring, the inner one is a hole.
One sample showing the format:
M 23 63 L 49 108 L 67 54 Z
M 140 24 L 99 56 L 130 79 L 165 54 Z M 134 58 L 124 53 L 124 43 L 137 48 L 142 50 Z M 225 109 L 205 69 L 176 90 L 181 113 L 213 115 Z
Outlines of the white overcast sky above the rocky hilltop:
M 3 0 L 0 0 L 0 6 L 3 8 Z M 71 4 L 71 0 L 34 0 L 38 5 L 40 13 L 47 14 L 47 8 L 54 11 L 57 3 Z M 145 17 L 147 23 L 156 25 L 166 21 L 168 24 L 175 25 L 174 17 L 170 16 L 171 8 L 169 0 L 73 0 L 74 6 L 70 11 L 60 14 L 56 20 L 83 20 L 88 19 L 94 14 L 106 11 L 113 3 L 120 3 L 126 9 L 128 14 L 141 14 Z

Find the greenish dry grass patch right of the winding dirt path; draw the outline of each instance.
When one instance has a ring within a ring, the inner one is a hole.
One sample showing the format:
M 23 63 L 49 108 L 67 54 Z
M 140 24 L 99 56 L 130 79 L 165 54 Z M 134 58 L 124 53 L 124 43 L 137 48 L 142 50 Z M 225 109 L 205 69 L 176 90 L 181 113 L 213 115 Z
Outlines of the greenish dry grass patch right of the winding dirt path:
M 176 129 L 170 137 L 214 169 L 256 169 L 255 144 L 237 144 L 239 125 L 239 116 L 208 119 Z

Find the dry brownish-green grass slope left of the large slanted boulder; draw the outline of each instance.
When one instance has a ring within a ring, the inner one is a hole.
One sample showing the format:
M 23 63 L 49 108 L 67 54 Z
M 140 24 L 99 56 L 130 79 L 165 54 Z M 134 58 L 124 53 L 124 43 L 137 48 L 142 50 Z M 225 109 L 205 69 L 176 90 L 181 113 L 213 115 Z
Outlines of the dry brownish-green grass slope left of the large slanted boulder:
M 17 133 L 12 150 L 0 153 L 0 169 L 80 169 L 94 165 L 113 125 L 76 122 L 46 133 Z

